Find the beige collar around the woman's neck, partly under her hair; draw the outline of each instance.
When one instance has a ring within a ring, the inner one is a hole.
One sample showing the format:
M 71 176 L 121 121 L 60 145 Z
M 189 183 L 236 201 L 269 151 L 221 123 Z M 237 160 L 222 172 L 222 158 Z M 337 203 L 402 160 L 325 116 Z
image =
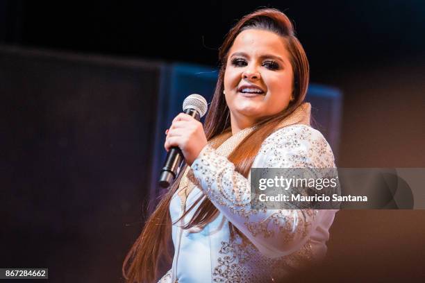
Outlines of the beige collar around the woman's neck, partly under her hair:
M 294 125 L 294 124 L 303 124 L 310 126 L 310 103 L 303 103 L 299 105 L 299 107 L 292 112 L 288 117 L 283 119 L 281 123 L 278 124 L 276 130 L 284 128 L 286 126 Z M 231 135 L 231 131 L 224 132 L 222 135 L 215 137 L 214 139 L 208 141 L 210 146 L 216 148 L 217 153 L 219 155 L 223 155 L 228 157 L 236 146 L 240 144 L 240 142 L 247 137 L 252 131 L 252 128 L 245 128 L 235 135 Z M 275 131 L 276 131 L 275 130 Z M 219 146 L 217 146 L 219 145 Z M 188 178 L 188 171 L 190 166 L 186 167 L 185 172 L 183 173 L 183 177 L 181 178 L 180 185 L 178 186 L 178 196 L 181 198 L 182 204 L 185 203 L 186 198 L 190 194 L 190 191 L 194 188 L 194 184 Z

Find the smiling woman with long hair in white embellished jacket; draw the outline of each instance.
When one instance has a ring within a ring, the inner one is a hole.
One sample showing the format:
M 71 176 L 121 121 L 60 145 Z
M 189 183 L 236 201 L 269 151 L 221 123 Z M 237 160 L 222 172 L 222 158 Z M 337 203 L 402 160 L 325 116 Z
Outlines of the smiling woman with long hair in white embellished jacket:
M 219 49 L 221 67 L 205 125 L 178 114 L 165 148 L 188 166 L 128 252 L 128 282 L 154 282 L 172 237 L 172 268 L 159 282 L 276 282 L 324 257 L 334 210 L 251 209 L 250 169 L 333 168 L 311 128 L 308 60 L 290 19 L 257 10 Z

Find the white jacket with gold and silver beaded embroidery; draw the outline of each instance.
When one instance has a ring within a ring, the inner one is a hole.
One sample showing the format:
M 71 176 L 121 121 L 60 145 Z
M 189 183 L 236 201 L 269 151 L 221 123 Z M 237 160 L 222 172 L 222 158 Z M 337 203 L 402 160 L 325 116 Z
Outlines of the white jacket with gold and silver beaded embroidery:
M 310 126 L 281 128 L 267 137 L 253 168 L 333 168 L 331 147 Z M 273 282 L 306 262 L 324 257 L 328 229 L 335 210 L 267 209 L 249 207 L 250 182 L 233 163 L 206 146 L 191 166 L 197 187 L 185 203 L 174 194 L 169 207 L 172 221 L 205 194 L 219 215 L 203 228 L 172 226 L 172 269 L 160 282 Z M 185 216 L 192 218 L 197 206 Z M 228 221 L 251 243 L 231 239 Z

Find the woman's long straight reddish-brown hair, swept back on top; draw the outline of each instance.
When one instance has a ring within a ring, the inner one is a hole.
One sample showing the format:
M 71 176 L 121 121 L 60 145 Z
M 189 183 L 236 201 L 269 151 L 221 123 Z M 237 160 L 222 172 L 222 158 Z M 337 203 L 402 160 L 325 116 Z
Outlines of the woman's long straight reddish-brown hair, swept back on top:
M 256 129 L 251 132 L 228 156 L 228 160 L 235 164 L 235 170 L 244 175 L 249 174 L 249 169 L 256 157 L 261 144 L 278 126 L 278 123 L 288 117 L 296 108 L 303 103 L 308 88 L 309 67 L 306 53 L 294 35 L 294 28 L 290 19 L 279 10 L 267 8 L 256 10 L 243 17 L 224 38 L 224 42 L 219 49 L 219 75 L 213 101 L 210 104 L 210 110 L 206 116 L 204 130 L 208 140 L 217 137 L 231 126 L 227 119 L 229 109 L 224 98 L 224 72 L 226 71 L 226 62 L 228 51 L 231 49 L 235 38 L 244 30 L 256 28 L 264 31 L 271 31 L 281 36 L 285 40 L 286 48 L 290 53 L 290 61 L 294 74 L 293 96 L 294 100 L 290 102 L 288 108 L 272 117 L 266 117 L 260 121 Z M 217 146 L 217 145 L 216 145 Z M 183 170 L 182 170 L 183 171 Z M 182 175 L 182 174 L 181 174 Z M 174 182 L 167 194 L 163 196 L 158 203 L 155 211 L 148 218 L 144 225 L 142 233 L 128 252 L 122 272 L 127 282 L 148 282 L 156 280 L 158 259 L 165 255 L 171 259 L 167 243 L 171 237 L 171 218 L 169 215 L 169 204 L 172 196 L 178 189 L 181 176 Z M 209 223 L 218 214 L 217 208 L 208 198 L 201 197 L 196 202 L 199 205 L 191 221 L 185 225 L 185 229 L 197 225 Z M 190 207 L 181 218 L 183 218 L 194 207 Z M 237 232 L 237 228 L 229 223 L 232 234 Z M 242 235 L 243 236 L 243 235 Z

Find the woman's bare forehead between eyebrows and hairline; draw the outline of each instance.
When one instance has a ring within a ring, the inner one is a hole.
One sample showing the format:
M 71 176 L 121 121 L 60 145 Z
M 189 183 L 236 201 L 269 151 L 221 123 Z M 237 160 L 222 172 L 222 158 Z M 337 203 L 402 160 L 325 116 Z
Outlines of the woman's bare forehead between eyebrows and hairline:
M 282 37 L 271 31 L 253 28 L 242 31 L 242 33 L 235 38 L 229 55 L 235 52 L 244 52 L 253 56 L 271 54 L 289 58 L 285 40 Z

